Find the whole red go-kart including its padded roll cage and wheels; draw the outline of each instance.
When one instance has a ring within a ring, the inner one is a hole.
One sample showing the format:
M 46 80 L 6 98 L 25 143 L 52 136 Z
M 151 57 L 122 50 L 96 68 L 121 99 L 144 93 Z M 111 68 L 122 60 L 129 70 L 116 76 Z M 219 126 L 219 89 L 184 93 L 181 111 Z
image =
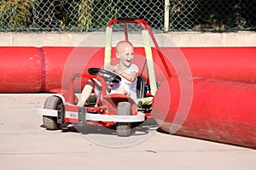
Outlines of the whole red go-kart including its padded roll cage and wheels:
M 113 19 L 108 24 L 106 35 L 110 37 L 111 26 L 114 22 L 122 22 L 124 26 L 126 23 L 136 23 L 142 26 L 144 32 L 143 37 L 145 42 L 146 60 L 145 65 L 148 66 L 147 83 L 143 75 L 137 77 L 137 99 L 122 94 L 107 94 L 108 86 L 112 82 L 119 82 L 121 78 L 111 72 L 100 68 L 89 68 L 88 74 L 74 74 L 70 77 L 68 90 L 61 89 L 61 92 L 54 94 L 46 99 L 44 109 L 38 108 L 38 113 L 43 115 L 44 127 L 49 130 L 56 130 L 61 127 L 61 124 L 72 123 L 79 126 L 96 125 L 102 127 L 114 127 L 118 136 L 130 136 L 131 127 L 137 126 L 146 119 L 153 118 L 152 100 L 156 91 L 156 82 L 154 75 L 154 62 L 152 59 L 151 48 L 148 47 L 149 37 L 154 42 L 154 47 L 160 48 L 156 43 L 153 33 L 145 20 L 134 18 L 119 18 Z M 148 37 L 147 37 L 148 36 Z M 127 27 L 125 27 L 125 40 L 128 40 Z M 105 59 L 104 63 L 109 63 L 111 59 L 111 41 L 106 38 Z M 147 48 L 147 49 L 146 49 Z M 168 73 L 169 69 L 166 65 L 162 54 L 159 54 L 160 60 L 166 67 Z M 149 62 L 148 62 L 149 60 Z M 145 66 L 144 65 L 144 66 Z M 151 66 L 150 66 L 151 65 Z M 143 66 L 143 68 L 144 68 Z M 142 71 L 143 72 L 143 71 Z M 79 101 L 78 94 L 75 93 L 73 82 L 75 79 L 94 79 L 101 83 L 101 88 L 97 94 L 88 99 L 89 102 L 83 107 L 77 105 Z M 150 81 L 150 83 L 148 83 Z M 148 89 L 151 89 L 148 94 Z M 143 102 L 143 100 L 151 100 L 151 102 Z

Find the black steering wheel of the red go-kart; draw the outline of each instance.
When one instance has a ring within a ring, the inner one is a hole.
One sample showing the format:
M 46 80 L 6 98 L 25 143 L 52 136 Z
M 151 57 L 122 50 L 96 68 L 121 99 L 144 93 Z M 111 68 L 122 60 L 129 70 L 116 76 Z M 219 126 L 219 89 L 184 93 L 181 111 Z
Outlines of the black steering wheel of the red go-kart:
M 99 75 L 106 82 L 121 82 L 121 77 L 119 77 L 118 74 L 112 71 L 107 71 L 99 68 L 90 68 L 88 69 L 88 72 L 90 75 Z

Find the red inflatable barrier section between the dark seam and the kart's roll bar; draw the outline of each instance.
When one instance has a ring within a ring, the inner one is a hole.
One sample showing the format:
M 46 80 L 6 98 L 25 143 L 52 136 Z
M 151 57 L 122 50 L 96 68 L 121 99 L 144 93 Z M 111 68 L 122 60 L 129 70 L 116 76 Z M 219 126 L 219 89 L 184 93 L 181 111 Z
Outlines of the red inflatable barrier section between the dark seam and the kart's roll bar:
M 90 67 L 103 66 L 103 48 L 63 48 L 44 47 L 45 57 L 45 91 L 49 92 L 55 88 L 68 88 L 70 77 L 74 74 L 83 74 Z M 95 55 L 101 52 L 98 56 Z M 76 82 L 75 82 L 76 83 Z M 75 88 L 80 90 L 83 82 L 76 83 Z

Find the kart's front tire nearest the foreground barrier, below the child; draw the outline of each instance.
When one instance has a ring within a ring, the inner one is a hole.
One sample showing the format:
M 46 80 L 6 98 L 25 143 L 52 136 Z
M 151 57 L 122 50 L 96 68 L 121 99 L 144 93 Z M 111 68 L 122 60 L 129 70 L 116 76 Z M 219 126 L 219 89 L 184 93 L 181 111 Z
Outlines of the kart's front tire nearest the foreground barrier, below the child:
M 131 115 L 131 104 L 129 102 L 119 102 L 117 115 Z M 117 122 L 116 133 L 120 137 L 131 136 L 131 122 Z

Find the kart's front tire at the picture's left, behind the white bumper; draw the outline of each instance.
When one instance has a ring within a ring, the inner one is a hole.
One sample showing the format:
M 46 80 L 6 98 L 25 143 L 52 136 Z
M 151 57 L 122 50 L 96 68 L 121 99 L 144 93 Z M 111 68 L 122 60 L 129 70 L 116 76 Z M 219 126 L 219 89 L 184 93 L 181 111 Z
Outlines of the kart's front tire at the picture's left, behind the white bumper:
M 57 106 L 61 105 L 61 103 L 60 98 L 49 96 L 44 103 L 44 109 L 57 110 Z M 43 116 L 43 123 L 47 130 L 57 130 L 61 127 L 61 124 L 57 123 L 57 117 L 55 116 Z

